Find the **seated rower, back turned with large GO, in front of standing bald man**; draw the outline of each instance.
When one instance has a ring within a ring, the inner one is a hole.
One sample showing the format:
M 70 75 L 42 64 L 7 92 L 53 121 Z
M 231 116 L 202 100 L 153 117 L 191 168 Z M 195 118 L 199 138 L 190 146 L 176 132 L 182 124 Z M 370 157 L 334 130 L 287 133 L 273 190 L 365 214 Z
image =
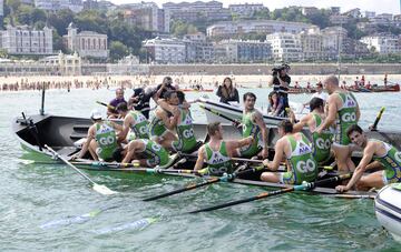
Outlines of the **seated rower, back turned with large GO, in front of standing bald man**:
M 283 158 L 286 159 L 287 172 L 263 172 L 261 180 L 274 183 L 301 184 L 317 178 L 317 163 L 313 158 L 312 144 L 302 133 L 294 133 L 293 124 L 283 120 L 278 124 L 281 139 L 275 144 L 272 162 L 267 159 L 263 164 L 271 171 L 277 171 Z

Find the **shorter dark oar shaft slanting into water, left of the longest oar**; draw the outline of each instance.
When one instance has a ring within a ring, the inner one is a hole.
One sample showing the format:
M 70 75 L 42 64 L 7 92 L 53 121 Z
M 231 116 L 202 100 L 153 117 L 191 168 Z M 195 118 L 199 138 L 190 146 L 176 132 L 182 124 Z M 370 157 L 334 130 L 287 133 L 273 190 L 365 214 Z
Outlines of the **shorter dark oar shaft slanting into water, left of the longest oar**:
M 177 189 L 177 190 L 174 190 L 174 191 L 170 191 L 170 192 L 166 192 L 166 193 L 158 194 L 158 195 L 155 195 L 155 196 L 146 198 L 146 199 L 144 199 L 144 201 L 154 201 L 154 200 L 158 200 L 158 199 L 162 199 L 162 198 L 174 195 L 174 194 L 177 194 L 177 193 L 180 193 L 180 192 L 186 192 L 186 191 L 189 191 L 189 190 L 193 190 L 193 189 L 202 188 L 202 187 L 205 187 L 207 184 L 213 184 L 213 183 L 216 183 L 216 182 L 219 182 L 219 181 L 229 181 L 229 180 L 235 179 L 238 175 L 252 173 L 252 172 L 260 171 L 260 170 L 263 170 L 263 169 L 265 169 L 265 168 L 263 165 L 261 165 L 261 167 L 247 169 L 247 170 L 244 170 L 244 171 L 233 172 L 231 174 L 226 174 L 226 175 L 223 175 L 223 177 L 219 177 L 219 178 L 212 178 L 212 179 L 208 179 L 207 181 L 202 182 L 202 183 L 189 184 L 189 185 L 187 185 L 185 188 L 182 188 L 182 189 Z

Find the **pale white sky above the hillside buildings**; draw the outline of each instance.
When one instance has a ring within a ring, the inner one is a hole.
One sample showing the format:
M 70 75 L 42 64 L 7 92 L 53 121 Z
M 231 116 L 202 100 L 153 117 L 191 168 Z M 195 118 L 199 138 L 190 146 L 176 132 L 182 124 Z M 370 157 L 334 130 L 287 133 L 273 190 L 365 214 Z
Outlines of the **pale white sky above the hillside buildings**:
M 140 2 L 138 0 L 110 0 L 114 3 L 135 3 Z M 146 0 L 151 1 L 151 0 Z M 182 2 L 184 0 L 153 0 L 160 8 L 165 2 Z M 186 0 L 187 2 L 194 2 L 195 0 Z M 209 0 L 203 0 L 209 1 Z M 400 14 L 400 1 L 401 0 L 218 0 L 223 2 L 224 7 L 228 7 L 232 3 L 263 3 L 270 10 L 290 6 L 305 6 L 305 7 L 341 7 L 341 12 L 360 8 L 361 11 L 375 11 L 376 13 L 393 13 Z

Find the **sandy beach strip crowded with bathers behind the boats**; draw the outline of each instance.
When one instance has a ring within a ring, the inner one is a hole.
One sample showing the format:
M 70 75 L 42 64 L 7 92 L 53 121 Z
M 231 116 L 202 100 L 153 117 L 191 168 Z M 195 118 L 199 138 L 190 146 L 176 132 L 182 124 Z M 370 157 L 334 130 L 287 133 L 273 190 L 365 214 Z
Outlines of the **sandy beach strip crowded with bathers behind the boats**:
M 223 79 L 229 77 L 237 88 L 268 88 L 272 81 L 271 75 L 255 75 L 255 74 L 218 74 L 218 75 L 184 75 L 169 74 L 173 78 L 174 84 L 180 89 L 190 88 L 194 84 L 202 84 L 204 89 L 215 89 L 217 84 L 222 84 Z M 55 77 L 55 75 L 32 75 L 32 77 L 0 77 L 0 92 L 16 92 L 25 90 L 39 90 L 42 83 L 46 83 L 49 89 L 101 89 L 101 88 L 119 88 L 134 89 L 139 87 L 155 87 L 162 83 L 165 75 L 78 75 L 78 77 Z M 319 81 L 323 81 L 326 74 L 314 75 L 295 75 L 291 74 L 291 85 L 295 82 L 303 88 L 310 82 L 314 87 Z M 361 79 L 361 74 L 343 74 L 340 78 L 340 83 L 345 81 L 348 85 L 352 85 L 354 81 Z M 383 85 L 384 74 L 364 74 L 365 83 Z M 388 74 L 389 83 L 399 83 L 401 74 Z M 18 83 L 18 88 L 14 87 Z M 10 89 L 4 89 L 4 87 Z

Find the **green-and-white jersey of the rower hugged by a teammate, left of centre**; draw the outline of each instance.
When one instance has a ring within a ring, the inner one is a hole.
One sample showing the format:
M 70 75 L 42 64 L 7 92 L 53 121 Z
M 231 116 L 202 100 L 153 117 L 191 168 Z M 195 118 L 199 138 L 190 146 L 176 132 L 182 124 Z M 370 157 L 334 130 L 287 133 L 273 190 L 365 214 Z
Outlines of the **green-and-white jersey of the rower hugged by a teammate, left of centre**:
M 196 138 L 194 134 L 193 119 L 190 112 L 179 109 L 180 120 L 176 127 L 178 141 L 173 142 L 173 148 L 176 151 L 190 152 L 196 147 Z

